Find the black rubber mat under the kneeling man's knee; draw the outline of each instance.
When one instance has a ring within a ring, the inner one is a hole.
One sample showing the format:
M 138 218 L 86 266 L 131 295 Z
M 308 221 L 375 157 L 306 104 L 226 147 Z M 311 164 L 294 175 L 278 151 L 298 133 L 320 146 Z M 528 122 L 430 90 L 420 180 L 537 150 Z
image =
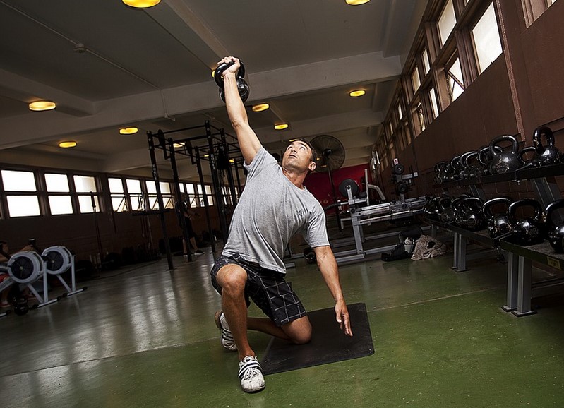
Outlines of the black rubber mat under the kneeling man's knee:
M 260 362 L 263 374 L 282 373 L 374 354 L 366 305 L 351 304 L 347 308 L 353 337 L 344 335 L 340 329 L 334 308 L 311 311 L 308 313 L 313 327 L 311 342 L 296 345 L 272 337 Z

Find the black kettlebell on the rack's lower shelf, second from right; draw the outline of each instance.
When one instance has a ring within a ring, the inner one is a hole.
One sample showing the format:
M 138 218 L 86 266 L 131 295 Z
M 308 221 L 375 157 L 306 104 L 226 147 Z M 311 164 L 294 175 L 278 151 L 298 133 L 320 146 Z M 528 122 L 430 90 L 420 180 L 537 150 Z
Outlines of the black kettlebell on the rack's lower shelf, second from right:
M 534 215 L 532 217 L 517 218 L 517 209 L 522 207 L 532 207 Z M 546 236 L 546 224 L 544 224 L 543 208 L 541 204 L 533 198 L 523 198 L 511 203 L 508 207 L 508 217 L 513 225 L 511 236 L 508 240 L 517 245 L 534 245 L 544 241 Z

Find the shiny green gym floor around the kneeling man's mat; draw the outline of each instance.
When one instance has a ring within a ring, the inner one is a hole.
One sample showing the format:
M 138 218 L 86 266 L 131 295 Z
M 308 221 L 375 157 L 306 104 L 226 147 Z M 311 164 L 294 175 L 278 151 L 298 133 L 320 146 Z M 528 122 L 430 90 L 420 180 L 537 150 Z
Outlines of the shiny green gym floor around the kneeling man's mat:
M 452 253 L 342 266 L 375 353 L 266 376 L 263 392 L 246 394 L 213 322 L 213 258 L 208 248 L 193 263 L 174 258 L 172 271 L 162 259 L 103 272 L 80 282 L 86 292 L 0 318 L 0 406 L 564 406 L 564 300 L 505 313 L 506 265 L 489 256 L 457 273 Z M 308 310 L 332 306 L 315 265 L 296 260 L 288 277 Z M 260 358 L 269 338 L 250 338 Z

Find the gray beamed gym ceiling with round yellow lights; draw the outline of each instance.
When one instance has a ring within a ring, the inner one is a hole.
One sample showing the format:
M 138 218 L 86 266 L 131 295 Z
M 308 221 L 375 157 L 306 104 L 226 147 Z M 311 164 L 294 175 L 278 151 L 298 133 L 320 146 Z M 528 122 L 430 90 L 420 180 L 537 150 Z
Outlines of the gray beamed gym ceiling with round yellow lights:
M 265 148 L 329 134 L 366 164 L 426 0 L 0 0 L 0 163 L 150 175 L 147 131 L 229 128 L 210 73 L 244 61 Z M 351 98 L 350 90 L 366 95 Z M 31 112 L 28 102 L 57 108 Z M 275 131 L 273 125 L 290 127 Z M 122 136 L 118 129 L 136 126 Z M 204 135 L 168 133 L 176 139 Z M 61 149 L 61 140 L 76 148 Z M 157 158 L 162 161 L 162 155 Z M 179 160 L 183 179 L 196 166 Z M 165 174 L 168 164 L 163 163 Z

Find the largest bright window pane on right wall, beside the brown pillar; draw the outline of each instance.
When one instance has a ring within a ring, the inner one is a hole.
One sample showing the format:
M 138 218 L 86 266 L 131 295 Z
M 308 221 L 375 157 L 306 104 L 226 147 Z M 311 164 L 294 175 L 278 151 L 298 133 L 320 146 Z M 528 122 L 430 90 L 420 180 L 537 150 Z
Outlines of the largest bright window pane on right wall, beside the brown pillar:
M 472 28 L 472 39 L 474 40 L 478 69 L 482 73 L 502 51 L 493 3 L 490 4 L 478 23 Z

